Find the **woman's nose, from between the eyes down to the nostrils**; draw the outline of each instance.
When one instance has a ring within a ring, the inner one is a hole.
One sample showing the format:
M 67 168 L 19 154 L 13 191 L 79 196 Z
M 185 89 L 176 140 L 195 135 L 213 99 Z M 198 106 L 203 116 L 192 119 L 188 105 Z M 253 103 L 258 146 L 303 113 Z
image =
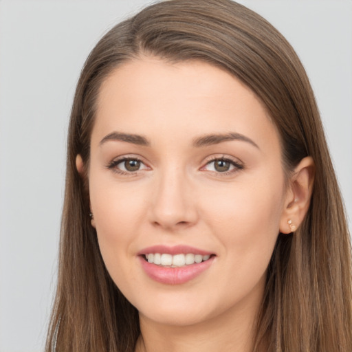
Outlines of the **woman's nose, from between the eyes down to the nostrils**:
M 199 217 L 194 187 L 180 170 L 159 175 L 152 190 L 150 221 L 165 230 L 194 225 Z

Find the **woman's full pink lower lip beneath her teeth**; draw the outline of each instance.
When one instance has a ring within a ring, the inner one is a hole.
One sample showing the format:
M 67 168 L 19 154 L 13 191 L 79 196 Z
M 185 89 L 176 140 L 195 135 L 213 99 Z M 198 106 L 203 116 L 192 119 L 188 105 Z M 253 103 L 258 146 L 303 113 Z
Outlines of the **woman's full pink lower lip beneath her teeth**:
M 139 258 L 146 274 L 154 281 L 166 285 L 181 285 L 182 283 L 191 281 L 193 278 L 196 278 L 202 272 L 206 271 L 214 260 L 214 256 L 211 256 L 208 261 L 185 265 L 184 267 L 162 267 L 148 263 L 148 261 L 144 259 L 144 256 L 139 256 Z

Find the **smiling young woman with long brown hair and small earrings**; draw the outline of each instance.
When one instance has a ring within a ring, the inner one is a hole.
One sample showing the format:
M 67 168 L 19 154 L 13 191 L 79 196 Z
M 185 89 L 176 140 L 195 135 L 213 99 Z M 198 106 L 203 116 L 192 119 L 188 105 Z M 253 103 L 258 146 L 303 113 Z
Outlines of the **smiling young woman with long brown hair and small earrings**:
M 309 81 L 228 0 L 116 25 L 69 126 L 47 351 L 351 351 L 351 247 Z

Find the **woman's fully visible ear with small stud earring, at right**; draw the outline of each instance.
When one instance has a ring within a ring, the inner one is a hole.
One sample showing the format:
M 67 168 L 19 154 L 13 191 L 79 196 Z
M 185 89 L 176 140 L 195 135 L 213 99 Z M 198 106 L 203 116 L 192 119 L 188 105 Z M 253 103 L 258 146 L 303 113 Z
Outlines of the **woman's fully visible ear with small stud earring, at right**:
M 311 201 L 315 165 L 312 157 L 303 158 L 289 179 L 280 220 L 280 232 L 294 232 L 305 218 Z

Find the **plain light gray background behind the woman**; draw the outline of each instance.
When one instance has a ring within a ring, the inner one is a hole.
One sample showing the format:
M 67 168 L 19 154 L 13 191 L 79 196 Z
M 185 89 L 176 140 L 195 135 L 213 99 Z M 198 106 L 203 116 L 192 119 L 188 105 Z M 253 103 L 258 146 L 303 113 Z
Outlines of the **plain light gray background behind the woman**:
M 149 2 L 0 1 L 1 352 L 43 350 L 76 80 L 101 34 Z M 241 3 L 281 30 L 302 59 L 351 220 L 352 1 Z

